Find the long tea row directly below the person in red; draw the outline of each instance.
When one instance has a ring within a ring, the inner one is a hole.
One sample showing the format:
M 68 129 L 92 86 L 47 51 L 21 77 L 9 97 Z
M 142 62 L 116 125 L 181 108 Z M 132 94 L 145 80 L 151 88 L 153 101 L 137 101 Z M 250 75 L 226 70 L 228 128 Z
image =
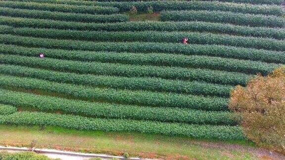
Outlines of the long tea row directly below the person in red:
M 236 59 L 285 64 L 285 54 L 279 51 L 233 47 L 225 45 L 202 45 L 157 42 L 91 42 L 79 40 L 54 40 L 0 34 L 0 43 L 28 47 L 59 48 L 68 50 L 158 52 L 185 55 L 208 55 Z

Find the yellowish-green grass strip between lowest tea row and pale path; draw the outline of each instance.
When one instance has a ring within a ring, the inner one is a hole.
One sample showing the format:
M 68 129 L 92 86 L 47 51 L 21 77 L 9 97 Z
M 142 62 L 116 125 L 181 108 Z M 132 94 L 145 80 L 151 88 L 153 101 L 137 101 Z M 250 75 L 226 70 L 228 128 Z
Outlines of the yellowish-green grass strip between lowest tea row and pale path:
M 248 151 L 233 149 L 254 146 L 247 141 L 202 141 L 187 137 L 170 137 L 136 132 L 78 131 L 61 127 L 0 125 L 0 144 L 29 147 L 35 142 L 36 148 L 65 149 L 86 153 L 106 153 L 142 158 L 163 159 L 256 159 Z M 212 145 L 212 147 L 205 147 Z

